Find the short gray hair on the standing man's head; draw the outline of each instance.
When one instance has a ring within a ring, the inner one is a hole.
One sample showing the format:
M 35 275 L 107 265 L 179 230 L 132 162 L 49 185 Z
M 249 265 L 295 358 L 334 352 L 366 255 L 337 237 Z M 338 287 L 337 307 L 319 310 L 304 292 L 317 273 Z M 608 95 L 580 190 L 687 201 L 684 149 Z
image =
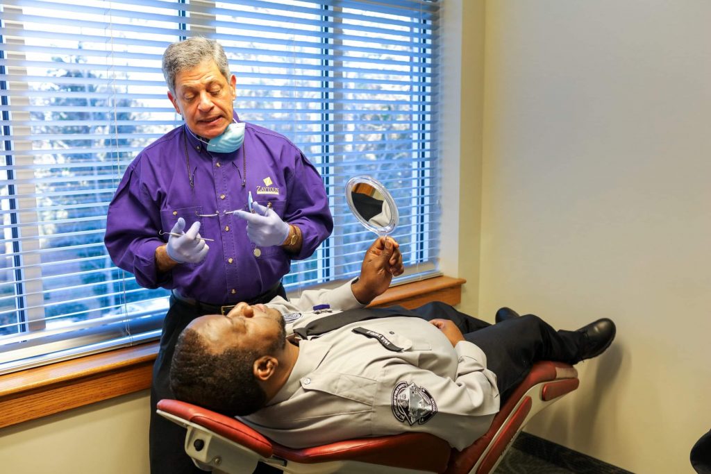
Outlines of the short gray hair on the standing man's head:
M 215 61 L 225 79 L 230 80 L 230 65 L 222 45 L 215 40 L 202 36 L 193 36 L 177 43 L 172 43 L 163 53 L 163 76 L 171 94 L 176 93 L 176 75 L 178 72 L 195 68 L 203 61 Z

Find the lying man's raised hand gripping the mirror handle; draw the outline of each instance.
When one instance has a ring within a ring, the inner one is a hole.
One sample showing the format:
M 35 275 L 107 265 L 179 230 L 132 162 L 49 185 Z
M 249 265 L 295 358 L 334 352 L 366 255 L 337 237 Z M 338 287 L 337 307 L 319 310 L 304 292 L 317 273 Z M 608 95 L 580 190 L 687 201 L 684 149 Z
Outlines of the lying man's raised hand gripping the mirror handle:
M 400 244 L 391 237 L 378 237 L 363 257 L 360 277 L 351 289 L 360 303 L 368 304 L 390 286 L 393 276 L 402 274 Z

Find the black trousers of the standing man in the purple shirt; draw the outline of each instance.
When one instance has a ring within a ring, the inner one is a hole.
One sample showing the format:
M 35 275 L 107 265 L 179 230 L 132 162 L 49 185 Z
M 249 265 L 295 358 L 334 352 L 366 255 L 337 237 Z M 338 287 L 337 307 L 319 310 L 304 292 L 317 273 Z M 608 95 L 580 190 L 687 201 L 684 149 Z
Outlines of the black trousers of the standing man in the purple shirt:
M 284 286 L 279 285 L 276 291 L 265 294 L 250 304 L 268 303 L 274 296 L 287 297 Z M 156 405 L 161 399 L 173 399 L 170 388 L 170 371 L 173 352 L 178 342 L 178 335 L 188 323 L 198 316 L 215 311 L 192 306 L 176 300 L 171 296 L 171 306 L 163 321 L 163 333 L 158 357 L 153 365 L 153 383 L 151 384 L 151 429 L 149 433 L 149 448 L 151 458 L 151 474 L 188 474 L 204 473 L 193 464 L 193 460 L 183 450 L 186 431 L 156 414 Z

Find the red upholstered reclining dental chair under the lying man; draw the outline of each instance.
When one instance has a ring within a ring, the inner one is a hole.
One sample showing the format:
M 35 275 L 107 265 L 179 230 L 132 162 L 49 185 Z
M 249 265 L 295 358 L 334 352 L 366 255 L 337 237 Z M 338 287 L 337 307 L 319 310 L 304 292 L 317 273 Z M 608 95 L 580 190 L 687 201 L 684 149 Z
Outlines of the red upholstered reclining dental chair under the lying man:
M 284 473 L 493 472 L 528 420 L 577 389 L 577 370 L 561 362 L 536 362 L 528 377 L 501 406 L 488 431 L 463 451 L 428 433 L 358 438 L 292 449 L 270 441 L 237 419 L 200 406 L 164 399 L 158 413 L 185 427 L 185 451 L 203 470 L 252 473 L 258 462 Z

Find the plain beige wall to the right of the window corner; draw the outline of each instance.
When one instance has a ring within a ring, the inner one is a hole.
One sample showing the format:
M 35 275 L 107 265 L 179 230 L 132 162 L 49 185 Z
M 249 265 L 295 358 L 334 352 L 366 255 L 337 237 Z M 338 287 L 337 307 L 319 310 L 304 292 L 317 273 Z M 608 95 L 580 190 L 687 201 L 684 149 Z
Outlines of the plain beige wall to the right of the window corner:
M 529 431 L 638 473 L 692 473 L 711 429 L 710 25 L 706 0 L 486 3 L 479 309 L 614 318 Z

